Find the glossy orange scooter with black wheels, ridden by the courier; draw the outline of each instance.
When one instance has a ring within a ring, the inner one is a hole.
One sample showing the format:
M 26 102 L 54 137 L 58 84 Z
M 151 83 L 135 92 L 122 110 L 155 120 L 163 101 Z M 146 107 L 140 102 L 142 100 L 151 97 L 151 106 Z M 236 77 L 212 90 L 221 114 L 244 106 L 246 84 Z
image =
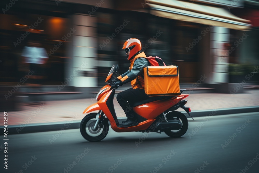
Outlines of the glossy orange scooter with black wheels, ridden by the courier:
M 80 132 L 88 141 L 100 141 L 105 138 L 109 131 L 110 121 L 111 128 L 115 132 L 164 132 L 170 137 L 180 137 L 184 135 L 188 129 L 188 120 L 181 112 L 174 110 L 183 108 L 189 116 L 191 109 L 185 107 L 189 94 L 181 94 L 179 96 L 168 96 L 161 98 L 160 96 L 150 97 L 140 102 L 135 102 L 131 107 L 138 115 L 139 124 L 133 127 L 123 128 L 117 119 L 113 98 L 115 94 L 115 86 L 119 66 L 112 66 L 105 85 L 96 96 L 97 103 L 92 104 L 84 110 L 83 113 L 89 113 L 99 110 L 98 113 L 90 113 L 86 115 L 80 123 Z

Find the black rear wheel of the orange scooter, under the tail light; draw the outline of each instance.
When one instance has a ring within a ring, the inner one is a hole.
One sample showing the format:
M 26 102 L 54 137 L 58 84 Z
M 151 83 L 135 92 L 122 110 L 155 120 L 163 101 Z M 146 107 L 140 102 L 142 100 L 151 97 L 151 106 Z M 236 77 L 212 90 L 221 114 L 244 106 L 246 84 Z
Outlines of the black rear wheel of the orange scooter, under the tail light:
M 181 137 L 183 136 L 187 130 L 188 130 L 188 120 L 186 118 L 186 116 L 181 113 L 181 112 L 177 112 L 177 111 L 173 111 L 173 112 L 169 112 L 168 114 L 166 114 L 167 116 L 167 120 L 179 120 L 182 121 L 182 128 L 178 131 L 176 130 L 165 130 L 164 133 L 167 134 L 170 137 Z

